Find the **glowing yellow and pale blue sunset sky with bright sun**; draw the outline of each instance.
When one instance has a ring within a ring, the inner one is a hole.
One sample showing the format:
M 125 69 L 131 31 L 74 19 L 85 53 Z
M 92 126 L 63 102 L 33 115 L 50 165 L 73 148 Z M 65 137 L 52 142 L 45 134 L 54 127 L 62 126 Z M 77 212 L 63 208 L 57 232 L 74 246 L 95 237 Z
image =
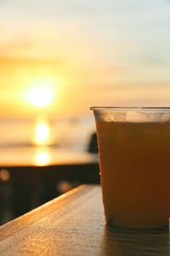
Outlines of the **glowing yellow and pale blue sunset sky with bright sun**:
M 168 106 L 169 32 L 168 0 L 0 0 L 0 116 Z

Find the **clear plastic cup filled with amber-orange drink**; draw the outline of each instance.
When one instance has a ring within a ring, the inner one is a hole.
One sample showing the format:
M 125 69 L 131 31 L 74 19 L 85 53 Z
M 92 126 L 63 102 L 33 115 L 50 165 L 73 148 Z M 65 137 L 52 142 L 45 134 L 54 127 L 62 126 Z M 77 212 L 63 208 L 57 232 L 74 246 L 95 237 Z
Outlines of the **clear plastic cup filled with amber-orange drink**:
M 94 111 L 107 224 L 168 226 L 170 108 L 90 108 Z

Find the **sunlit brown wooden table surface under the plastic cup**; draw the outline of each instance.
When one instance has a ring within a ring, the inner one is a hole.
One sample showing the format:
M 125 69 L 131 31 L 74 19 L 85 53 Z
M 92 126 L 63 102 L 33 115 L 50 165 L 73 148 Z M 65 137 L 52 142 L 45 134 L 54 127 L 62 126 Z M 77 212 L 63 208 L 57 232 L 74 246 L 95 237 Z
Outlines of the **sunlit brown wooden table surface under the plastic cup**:
M 170 253 L 169 230 L 106 228 L 99 185 L 82 185 L 0 228 L 0 255 Z

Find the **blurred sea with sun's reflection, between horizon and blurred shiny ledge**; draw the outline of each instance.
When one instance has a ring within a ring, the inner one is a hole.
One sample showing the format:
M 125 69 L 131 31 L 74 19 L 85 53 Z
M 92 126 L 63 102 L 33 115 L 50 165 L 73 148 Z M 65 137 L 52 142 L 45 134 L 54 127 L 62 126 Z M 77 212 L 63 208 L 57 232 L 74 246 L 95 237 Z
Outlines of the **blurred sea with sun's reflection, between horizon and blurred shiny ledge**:
M 94 119 L 0 119 L 0 147 L 49 145 L 86 150 Z

